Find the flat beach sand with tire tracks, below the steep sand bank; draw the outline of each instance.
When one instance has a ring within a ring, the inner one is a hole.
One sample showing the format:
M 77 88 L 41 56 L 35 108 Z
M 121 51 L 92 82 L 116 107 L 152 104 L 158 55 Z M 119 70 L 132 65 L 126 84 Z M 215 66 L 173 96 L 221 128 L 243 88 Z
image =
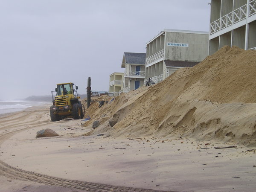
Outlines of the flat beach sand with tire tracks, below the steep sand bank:
M 254 191 L 256 154 L 236 143 L 200 142 L 188 138 L 113 138 L 80 136 L 92 128 L 83 121 L 50 122 L 48 106 L 0 118 L 1 191 L 87 191 L 64 181 L 99 183 L 88 191 Z M 35 138 L 51 128 L 59 137 Z M 214 147 L 236 146 L 215 149 Z M 9 170 L 3 169 L 6 164 Z M 35 172 L 53 179 L 22 172 Z M 23 179 L 22 179 L 23 177 Z M 47 185 L 48 182 L 48 185 Z M 77 186 L 76 186 L 77 185 Z M 105 187 L 105 188 L 104 188 Z M 76 189 L 75 189 L 76 188 Z M 102 189 L 101 189 L 102 188 Z M 136 188 L 136 189 L 135 189 Z

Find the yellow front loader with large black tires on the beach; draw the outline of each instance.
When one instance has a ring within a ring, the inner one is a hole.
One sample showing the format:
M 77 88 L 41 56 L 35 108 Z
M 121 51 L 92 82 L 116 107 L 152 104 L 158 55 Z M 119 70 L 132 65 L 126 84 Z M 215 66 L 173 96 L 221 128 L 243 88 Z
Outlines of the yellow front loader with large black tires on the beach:
M 59 121 L 64 118 L 82 119 L 84 106 L 77 96 L 78 86 L 73 83 L 57 84 L 52 91 L 52 106 L 50 107 L 51 121 Z

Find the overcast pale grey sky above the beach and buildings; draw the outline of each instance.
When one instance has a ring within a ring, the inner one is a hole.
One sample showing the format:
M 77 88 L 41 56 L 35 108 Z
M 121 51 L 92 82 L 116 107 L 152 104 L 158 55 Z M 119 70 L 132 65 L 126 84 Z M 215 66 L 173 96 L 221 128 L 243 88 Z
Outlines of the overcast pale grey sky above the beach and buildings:
M 210 0 L 0 0 L 0 99 L 74 82 L 108 91 L 124 52 L 163 29 L 209 31 Z

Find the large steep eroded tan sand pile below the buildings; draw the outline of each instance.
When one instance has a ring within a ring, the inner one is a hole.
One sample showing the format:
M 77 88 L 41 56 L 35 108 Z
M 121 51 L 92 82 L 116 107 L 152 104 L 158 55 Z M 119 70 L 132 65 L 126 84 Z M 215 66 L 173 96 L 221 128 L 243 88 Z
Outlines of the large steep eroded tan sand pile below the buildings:
M 87 110 L 101 125 L 90 134 L 112 137 L 193 137 L 256 145 L 256 51 L 224 47 L 192 68 L 177 70 Z M 111 127 L 108 120 L 118 119 Z

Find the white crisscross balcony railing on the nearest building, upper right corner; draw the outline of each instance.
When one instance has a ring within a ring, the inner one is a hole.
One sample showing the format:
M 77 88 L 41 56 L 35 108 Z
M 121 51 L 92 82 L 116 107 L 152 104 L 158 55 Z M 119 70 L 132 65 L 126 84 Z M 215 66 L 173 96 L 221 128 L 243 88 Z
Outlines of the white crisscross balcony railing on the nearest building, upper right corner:
M 255 14 L 256 12 L 255 1 L 256 0 L 253 0 L 250 2 L 249 16 Z M 244 5 L 234 10 L 233 12 L 230 12 L 229 14 L 224 15 L 220 19 L 213 21 L 212 23 L 210 23 L 210 28 L 211 28 L 210 34 L 218 32 L 221 29 L 224 29 L 234 23 L 237 23 L 241 20 L 246 19 L 246 12 L 247 12 L 247 5 Z

